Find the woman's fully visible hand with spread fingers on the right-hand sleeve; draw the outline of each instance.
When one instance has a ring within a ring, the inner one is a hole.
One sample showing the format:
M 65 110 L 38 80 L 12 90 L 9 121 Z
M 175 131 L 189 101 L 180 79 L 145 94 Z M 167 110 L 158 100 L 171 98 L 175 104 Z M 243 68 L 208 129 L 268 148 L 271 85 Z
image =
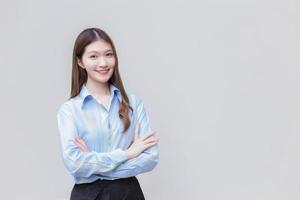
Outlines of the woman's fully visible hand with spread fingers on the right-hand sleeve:
M 145 149 L 158 144 L 159 139 L 154 137 L 156 131 L 151 131 L 143 137 L 138 138 L 140 124 L 138 123 L 134 130 L 134 141 L 130 147 L 125 150 L 129 159 L 135 158 L 140 155 Z

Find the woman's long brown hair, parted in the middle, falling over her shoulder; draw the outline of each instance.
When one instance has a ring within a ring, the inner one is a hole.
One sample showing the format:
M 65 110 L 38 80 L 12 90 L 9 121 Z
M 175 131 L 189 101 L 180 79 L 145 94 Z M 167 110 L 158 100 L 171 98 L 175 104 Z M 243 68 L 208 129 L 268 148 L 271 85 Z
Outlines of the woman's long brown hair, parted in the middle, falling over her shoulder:
M 77 96 L 81 90 L 81 87 L 87 81 L 87 72 L 85 69 L 81 68 L 77 63 L 77 58 L 81 59 L 82 55 L 85 51 L 85 47 L 92 42 L 98 40 L 104 40 L 105 42 L 109 43 L 112 47 L 116 63 L 114 67 L 114 72 L 111 78 L 108 80 L 109 84 L 115 85 L 121 92 L 122 95 L 122 102 L 120 103 L 119 108 L 119 117 L 123 121 L 124 130 L 123 132 L 127 131 L 130 126 L 130 118 L 129 118 L 129 109 L 133 111 L 132 107 L 129 104 L 129 99 L 124 89 L 122 79 L 119 73 L 118 67 L 118 56 L 113 44 L 113 41 L 105 33 L 103 30 L 99 28 L 88 28 L 83 30 L 76 38 L 74 49 L 73 49 L 73 60 L 72 60 L 72 82 L 71 82 L 71 96 L 73 98 Z

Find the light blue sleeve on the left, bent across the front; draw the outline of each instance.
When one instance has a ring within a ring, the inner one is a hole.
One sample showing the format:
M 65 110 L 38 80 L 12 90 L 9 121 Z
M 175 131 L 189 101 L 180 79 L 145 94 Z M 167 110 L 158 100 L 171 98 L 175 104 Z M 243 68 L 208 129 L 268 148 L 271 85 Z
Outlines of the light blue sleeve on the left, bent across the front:
M 74 117 L 69 105 L 63 104 L 57 113 L 58 129 L 64 165 L 74 177 L 90 177 L 92 174 L 110 172 L 128 160 L 122 149 L 111 152 L 82 152 L 74 143 L 78 137 Z

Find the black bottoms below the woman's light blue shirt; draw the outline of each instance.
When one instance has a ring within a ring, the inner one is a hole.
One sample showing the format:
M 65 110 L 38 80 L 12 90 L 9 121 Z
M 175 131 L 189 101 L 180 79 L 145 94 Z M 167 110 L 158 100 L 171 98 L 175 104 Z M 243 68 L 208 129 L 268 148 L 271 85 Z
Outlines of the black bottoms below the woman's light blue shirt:
M 145 197 L 137 178 L 133 176 L 75 184 L 71 200 L 145 200 Z

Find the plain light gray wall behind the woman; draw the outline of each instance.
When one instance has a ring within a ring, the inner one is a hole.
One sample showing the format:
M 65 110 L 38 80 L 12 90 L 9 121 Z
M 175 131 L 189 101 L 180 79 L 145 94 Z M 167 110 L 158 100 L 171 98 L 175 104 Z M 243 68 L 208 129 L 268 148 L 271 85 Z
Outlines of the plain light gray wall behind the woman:
M 75 37 L 113 38 L 161 159 L 149 200 L 300 199 L 300 4 L 293 0 L 1 1 L 1 199 L 68 199 L 58 106 Z M 5 197 L 5 198 L 3 198 Z

